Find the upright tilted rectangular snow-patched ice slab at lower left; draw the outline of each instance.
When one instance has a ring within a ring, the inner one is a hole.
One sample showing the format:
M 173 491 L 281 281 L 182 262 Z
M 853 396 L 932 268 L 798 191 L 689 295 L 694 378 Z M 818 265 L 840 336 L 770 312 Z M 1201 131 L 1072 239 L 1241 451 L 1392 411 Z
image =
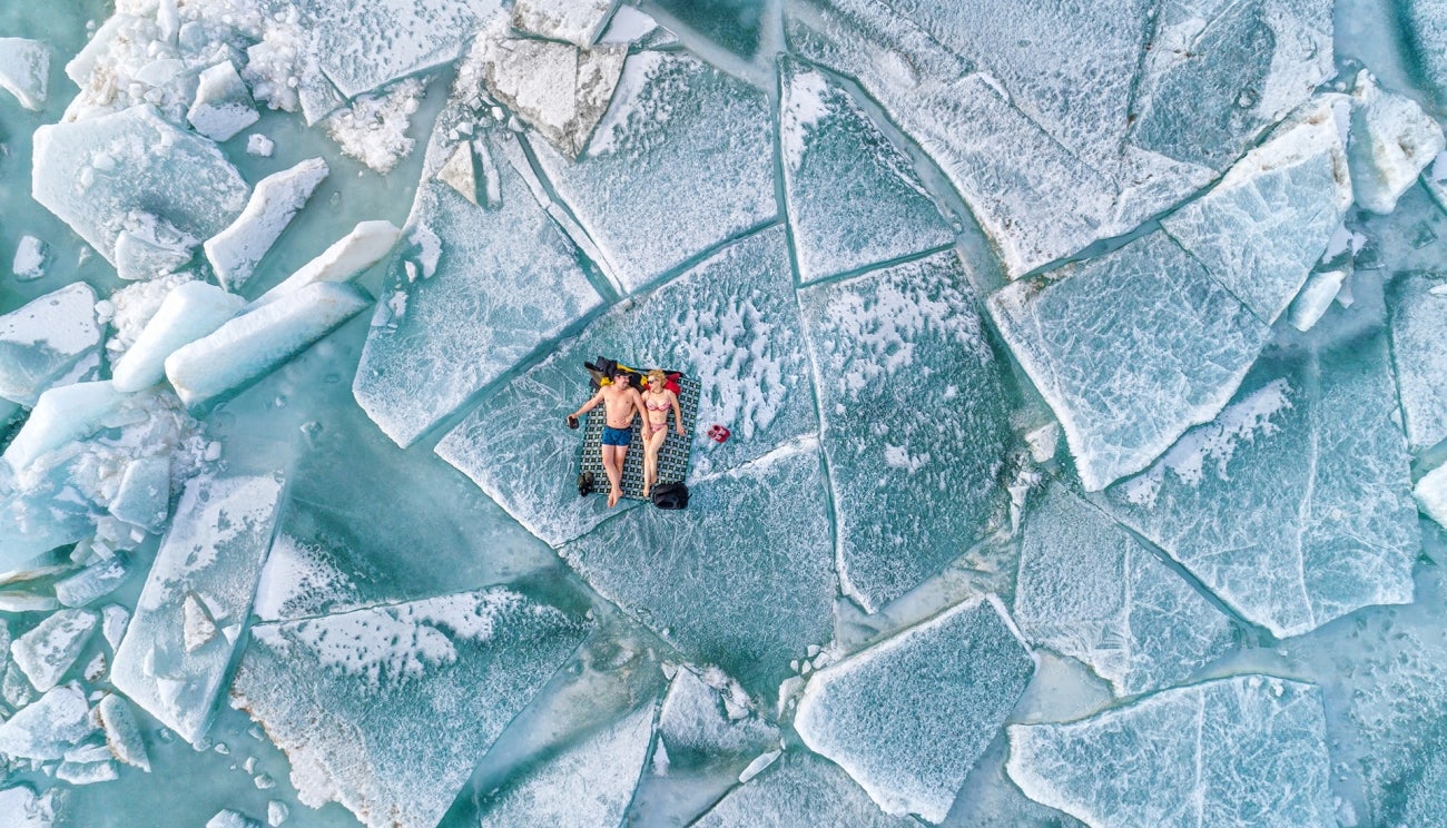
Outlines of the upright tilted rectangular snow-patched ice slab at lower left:
M 279 476 L 192 479 L 116 649 L 116 689 L 187 741 L 198 741 L 210 725 L 252 609 L 281 495 Z M 185 641 L 188 604 L 200 605 L 220 630 L 198 647 Z

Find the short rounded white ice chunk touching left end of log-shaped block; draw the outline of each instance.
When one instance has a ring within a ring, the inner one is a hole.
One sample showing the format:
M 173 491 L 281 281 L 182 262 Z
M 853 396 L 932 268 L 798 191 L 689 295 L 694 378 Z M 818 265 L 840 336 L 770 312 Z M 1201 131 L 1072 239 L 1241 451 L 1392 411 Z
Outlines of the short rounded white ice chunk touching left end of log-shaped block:
M 165 379 L 165 360 L 181 346 L 210 336 L 240 313 L 246 300 L 205 282 L 185 282 L 166 294 L 140 336 L 117 362 L 117 391 L 140 391 Z

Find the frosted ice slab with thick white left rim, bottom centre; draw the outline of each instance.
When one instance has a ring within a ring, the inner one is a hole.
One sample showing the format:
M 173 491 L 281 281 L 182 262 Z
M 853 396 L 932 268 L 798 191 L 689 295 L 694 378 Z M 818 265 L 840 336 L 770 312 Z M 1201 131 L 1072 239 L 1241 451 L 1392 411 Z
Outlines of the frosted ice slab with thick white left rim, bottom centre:
M 1033 673 L 998 602 L 969 601 L 815 673 L 794 730 L 887 814 L 941 822 Z

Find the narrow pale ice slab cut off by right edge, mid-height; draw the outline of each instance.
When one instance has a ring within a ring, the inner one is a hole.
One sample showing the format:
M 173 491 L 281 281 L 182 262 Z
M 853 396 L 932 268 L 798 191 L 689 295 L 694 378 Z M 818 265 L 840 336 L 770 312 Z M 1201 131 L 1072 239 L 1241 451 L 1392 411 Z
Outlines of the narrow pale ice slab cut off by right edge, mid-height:
M 1406 444 L 1431 449 L 1447 440 L 1447 276 L 1395 276 L 1388 313 Z

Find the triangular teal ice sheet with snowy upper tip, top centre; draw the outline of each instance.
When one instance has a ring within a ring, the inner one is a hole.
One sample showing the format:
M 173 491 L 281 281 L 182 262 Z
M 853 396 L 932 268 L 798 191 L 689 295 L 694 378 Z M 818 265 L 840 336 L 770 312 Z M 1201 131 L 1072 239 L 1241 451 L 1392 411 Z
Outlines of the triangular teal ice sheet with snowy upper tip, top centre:
M 778 64 L 784 203 L 803 284 L 948 245 L 910 159 L 818 69 Z

